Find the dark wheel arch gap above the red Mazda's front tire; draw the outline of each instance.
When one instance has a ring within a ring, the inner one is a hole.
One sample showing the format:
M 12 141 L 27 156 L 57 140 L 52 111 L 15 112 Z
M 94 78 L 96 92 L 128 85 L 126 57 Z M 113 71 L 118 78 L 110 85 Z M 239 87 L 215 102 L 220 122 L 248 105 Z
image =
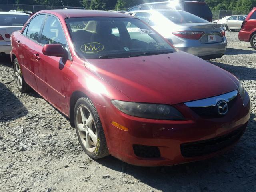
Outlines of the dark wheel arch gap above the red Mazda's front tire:
M 84 92 L 82 91 L 74 91 L 70 97 L 70 102 L 69 102 L 69 120 L 70 120 L 70 125 L 72 127 L 75 127 L 75 122 L 74 122 L 74 109 L 76 102 L 79 98 L 81 97 L 86 97 L 89 98 Z

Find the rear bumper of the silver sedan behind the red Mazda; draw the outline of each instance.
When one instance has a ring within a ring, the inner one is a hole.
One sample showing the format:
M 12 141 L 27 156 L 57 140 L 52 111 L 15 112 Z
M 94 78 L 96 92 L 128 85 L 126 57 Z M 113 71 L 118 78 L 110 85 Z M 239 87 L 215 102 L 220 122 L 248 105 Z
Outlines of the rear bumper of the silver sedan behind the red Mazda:
M 227 44 L 226 37 L 224 37 L 222 42 L 218 43 L 201 44 L 199 41 L 194 41 L 193 43 L 188 41 L 186 44 L 174 44 L 174 46 L 192 55 L 198 57 L 208 56 L 210 58 L 210 56 L 214 57 L 214 55 L 223 55 L 226 52 Z

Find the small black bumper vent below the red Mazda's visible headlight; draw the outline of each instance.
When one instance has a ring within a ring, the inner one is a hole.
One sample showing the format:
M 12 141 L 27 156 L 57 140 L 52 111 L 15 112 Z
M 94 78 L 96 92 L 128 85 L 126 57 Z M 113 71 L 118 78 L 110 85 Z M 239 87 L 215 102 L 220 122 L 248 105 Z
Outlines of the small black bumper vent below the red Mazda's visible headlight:
M 133 145 L 133 150 L 136 156 L 144 158 L 158 158 L 160 157 L 160 150 L 155 146 Z

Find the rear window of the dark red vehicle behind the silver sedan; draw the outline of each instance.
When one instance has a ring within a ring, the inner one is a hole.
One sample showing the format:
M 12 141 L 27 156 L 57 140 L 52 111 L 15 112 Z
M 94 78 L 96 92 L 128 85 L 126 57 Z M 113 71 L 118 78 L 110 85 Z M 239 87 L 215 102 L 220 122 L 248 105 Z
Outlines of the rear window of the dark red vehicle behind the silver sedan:
M 188 2 L 184 4 L 184 11 L 197 15 L 199 17 L 212 16 L 212 12 L 207 4 Z

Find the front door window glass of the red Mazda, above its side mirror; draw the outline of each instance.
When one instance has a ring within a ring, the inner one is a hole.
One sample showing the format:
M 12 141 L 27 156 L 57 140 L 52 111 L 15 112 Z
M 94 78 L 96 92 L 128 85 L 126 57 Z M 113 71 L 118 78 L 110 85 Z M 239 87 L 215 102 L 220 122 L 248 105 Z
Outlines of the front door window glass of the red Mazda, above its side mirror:
M 74 27 L 77 24 L 73 24 Z M 66 48 L 66 38 L 60 22 L 53 16 L 48 15 L 42 32 L 41 44 L 58 43 Z

